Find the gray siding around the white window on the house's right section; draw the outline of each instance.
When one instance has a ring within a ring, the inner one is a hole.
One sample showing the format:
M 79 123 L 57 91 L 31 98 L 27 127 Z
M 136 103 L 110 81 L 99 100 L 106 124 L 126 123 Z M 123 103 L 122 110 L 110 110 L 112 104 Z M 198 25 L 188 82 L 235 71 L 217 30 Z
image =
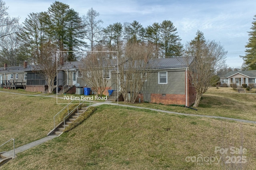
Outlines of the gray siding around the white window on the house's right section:
M 168 72 L 167 84 L 158 84 L 158 72 L 166 71 Z M 185 94 L 185 71 L 159 70 L 150 73 L 140 92 L 143 94 Z

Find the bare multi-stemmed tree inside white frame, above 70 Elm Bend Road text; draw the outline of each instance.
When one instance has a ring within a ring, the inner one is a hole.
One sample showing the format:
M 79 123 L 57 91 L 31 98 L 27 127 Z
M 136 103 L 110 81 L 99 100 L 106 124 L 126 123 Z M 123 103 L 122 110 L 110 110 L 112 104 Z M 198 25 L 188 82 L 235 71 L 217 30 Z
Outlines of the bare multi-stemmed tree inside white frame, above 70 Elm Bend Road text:
M 99 50 L 100 51 L 100 50 Z M 110 52 L 89 52 L 79 65 L 82 79 L 95 91 L 95 95 L 102 97 L 110 79 L 111 61 L 108 59 Z

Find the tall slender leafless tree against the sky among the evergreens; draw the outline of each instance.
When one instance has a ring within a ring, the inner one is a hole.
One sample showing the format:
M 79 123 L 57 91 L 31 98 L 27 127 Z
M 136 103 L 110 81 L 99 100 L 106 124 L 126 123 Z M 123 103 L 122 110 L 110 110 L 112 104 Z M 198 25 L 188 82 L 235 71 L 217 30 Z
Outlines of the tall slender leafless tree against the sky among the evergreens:
M 100 14 L 96 10 L 90 8 L 86 16 L 84 15 L 82 18 L 85 25 L 86 39 L 90 41 L 91 51 L 94 51 L 94 47 L 100 42 L 102 35 L 102 27 L 100 24 L 102 24 L 103 21 L 96 20 L 99 15 Z

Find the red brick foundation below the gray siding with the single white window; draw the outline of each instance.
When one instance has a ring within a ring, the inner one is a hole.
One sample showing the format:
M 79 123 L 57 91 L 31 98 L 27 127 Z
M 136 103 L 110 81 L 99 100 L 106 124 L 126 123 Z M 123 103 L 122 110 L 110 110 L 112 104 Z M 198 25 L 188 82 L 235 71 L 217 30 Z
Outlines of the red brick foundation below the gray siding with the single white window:
M 151 103 L 157 104 L 179 104 L 186 105 L 186 95 L 185 94 L 166 94 L 162 96 L 162 94 L 151 94 Z

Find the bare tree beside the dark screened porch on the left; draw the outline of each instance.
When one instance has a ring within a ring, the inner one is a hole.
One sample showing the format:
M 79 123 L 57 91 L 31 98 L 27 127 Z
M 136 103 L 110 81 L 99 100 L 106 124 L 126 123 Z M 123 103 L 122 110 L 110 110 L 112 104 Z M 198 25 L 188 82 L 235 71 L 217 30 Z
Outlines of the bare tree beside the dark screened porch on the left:
M 48 84 L 48 92 L 52 93 L 54 89 L 54 79 L 57 74 L 57 65 L 60 66 L 60 60 L 57 61 L 56 45 L 50 41 L 40 47 L 40 55 L 36 57 L 36 70 L 40 70 Z

